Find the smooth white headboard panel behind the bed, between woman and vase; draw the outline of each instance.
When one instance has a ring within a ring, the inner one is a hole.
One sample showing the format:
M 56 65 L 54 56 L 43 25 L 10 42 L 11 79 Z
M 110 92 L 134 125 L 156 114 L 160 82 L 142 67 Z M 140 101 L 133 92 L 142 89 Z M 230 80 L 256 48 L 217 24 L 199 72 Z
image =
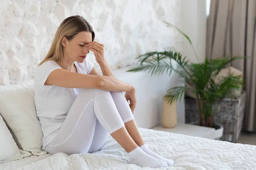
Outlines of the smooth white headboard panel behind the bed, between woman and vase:
M 137 105 L 134 118 L 138 127 L 151 128 L 161 124 L 163 96 L 169 88 L 184 86 L 174 71 L 171 76 L 153 75 L 147 72 L 126 72 L 128 68 L 113 70 L 119 80 L 130 83 L 136 88 Z M 177 102 L 177 122 L 185 122 L 185 104 Z

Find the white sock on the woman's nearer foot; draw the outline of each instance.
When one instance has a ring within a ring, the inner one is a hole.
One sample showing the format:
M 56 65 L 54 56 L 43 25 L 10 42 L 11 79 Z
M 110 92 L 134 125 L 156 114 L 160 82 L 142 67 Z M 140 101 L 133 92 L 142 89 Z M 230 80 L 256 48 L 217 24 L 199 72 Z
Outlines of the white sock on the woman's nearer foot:
M 141 167 L 168 167 L 165 161 L 159 160 L 146 154 L 140 147 L 136 147 L 134 150 L 128 153 L 129 164 L 136 164 Z

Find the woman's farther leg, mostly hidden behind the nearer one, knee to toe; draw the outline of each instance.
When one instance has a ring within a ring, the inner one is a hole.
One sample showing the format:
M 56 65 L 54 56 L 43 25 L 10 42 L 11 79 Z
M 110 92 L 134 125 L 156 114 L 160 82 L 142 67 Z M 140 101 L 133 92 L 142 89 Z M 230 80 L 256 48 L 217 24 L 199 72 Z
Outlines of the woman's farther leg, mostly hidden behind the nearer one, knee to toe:
M 113 98 L 113 101 L 115 102 L 117 111 L 119 112 L 123 122 L 125 123 L 125 128 L 127 129 L 128 133 L 130 134 L 131 138 L 134 140 L 134 142 L 141 147 L 141 149 L 153 156 L 154 158 L 166 161 L 168 166 L 174 164 L 174 161 L 172 159 L 166 159 L 163 158 L 156 153 L 152 152 L 148 146 L 145 144 L 140 131 L 137 127 L 137 124 L 133 118 L 133 114 L 131 112 L 131 109 L 128 105 L 128 102 L 125 99 L 125 96 L 122 92 L 117 92 L 117 91 L 111 91 L 111 96 Z M 133 119 L 132 119 L 133 118 Z

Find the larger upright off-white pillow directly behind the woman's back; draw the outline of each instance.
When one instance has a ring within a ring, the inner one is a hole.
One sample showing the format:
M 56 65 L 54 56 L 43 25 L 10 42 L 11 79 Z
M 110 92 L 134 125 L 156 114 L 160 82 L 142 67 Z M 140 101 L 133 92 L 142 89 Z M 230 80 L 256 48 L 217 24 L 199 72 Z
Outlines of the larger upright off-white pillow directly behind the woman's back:
M 0 86 L 0 113 L 12 130 L 18 147 L 34 155 L 46 154 L 41 150 L 43 133 L 31 87 Z

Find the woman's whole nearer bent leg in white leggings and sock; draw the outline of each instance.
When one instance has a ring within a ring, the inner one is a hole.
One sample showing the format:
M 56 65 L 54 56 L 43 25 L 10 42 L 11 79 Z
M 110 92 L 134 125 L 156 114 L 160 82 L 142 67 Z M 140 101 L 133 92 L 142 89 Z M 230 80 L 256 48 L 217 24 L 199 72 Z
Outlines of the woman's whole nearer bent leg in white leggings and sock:
M 87 153 L 93 142 L 93 135 L 96 135 L 94 133 L 96 133 L 97 119 L 102 127 L 128 152 L 130 163 L 142 167 L 167 166 L 166 162 L 155 159 L 137 146 L 125 128 L 110 92 L 98 89 L 81 89 L 63 125 L 45 150 L 52 154 L 57 152 Z M 99 138 L 99 140 L 105 139 Z

